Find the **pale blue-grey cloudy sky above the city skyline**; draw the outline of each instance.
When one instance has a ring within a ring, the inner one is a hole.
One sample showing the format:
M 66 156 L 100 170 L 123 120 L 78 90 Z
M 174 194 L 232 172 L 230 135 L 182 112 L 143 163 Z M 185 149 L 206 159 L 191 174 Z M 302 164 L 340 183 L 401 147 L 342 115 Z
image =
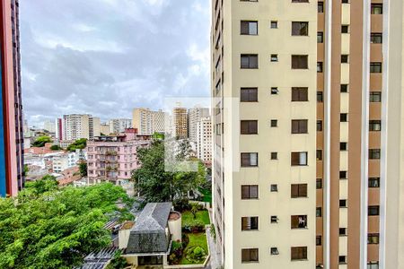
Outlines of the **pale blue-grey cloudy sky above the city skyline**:
M 131 117 L 164 97 L 209 94 L 210 0 L 20 3 L 30 126 L 69 113 Z

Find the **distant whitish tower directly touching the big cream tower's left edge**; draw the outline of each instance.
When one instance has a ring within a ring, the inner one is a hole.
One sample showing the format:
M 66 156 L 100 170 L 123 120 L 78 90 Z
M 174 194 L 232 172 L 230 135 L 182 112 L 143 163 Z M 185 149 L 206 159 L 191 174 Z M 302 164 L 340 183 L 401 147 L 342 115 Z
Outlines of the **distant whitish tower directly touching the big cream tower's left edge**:
M 190 138 L 189 138 L 190 139 Z M 197 157 L 204 162 L 212 161 L 212 119 L 202 117 L 197 123 Z

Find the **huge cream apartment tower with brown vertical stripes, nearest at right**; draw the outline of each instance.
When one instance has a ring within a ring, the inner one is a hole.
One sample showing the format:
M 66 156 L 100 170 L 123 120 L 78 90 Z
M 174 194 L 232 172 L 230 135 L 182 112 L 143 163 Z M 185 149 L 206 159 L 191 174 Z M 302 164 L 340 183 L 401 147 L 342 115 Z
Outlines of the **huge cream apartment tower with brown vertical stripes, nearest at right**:
M 212 6 L 224 268 L 404 268 L 402 1 Z

